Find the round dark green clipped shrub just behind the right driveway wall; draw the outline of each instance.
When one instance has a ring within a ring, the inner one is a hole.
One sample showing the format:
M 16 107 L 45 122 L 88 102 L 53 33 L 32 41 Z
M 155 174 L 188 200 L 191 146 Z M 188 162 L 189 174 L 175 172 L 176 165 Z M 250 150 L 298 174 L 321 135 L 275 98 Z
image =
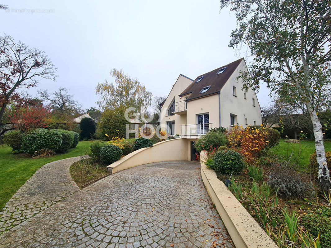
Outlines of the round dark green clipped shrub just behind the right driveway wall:
M 223 174 L 239 173 L 244 168 L 242 155 L 234 150 L 217 151 L 213 157 L 214 170 Z

